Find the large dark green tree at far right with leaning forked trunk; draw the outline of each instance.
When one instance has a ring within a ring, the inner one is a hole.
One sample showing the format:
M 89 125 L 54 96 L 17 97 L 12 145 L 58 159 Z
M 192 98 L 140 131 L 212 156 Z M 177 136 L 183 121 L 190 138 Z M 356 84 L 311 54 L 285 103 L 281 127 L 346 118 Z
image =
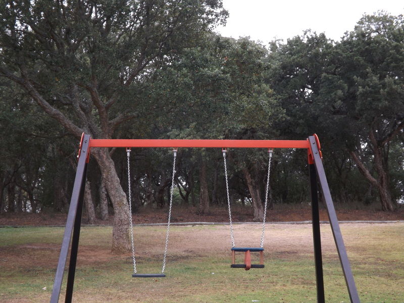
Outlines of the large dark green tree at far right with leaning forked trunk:
M 271 54 L 269 81 L 289 118 L 280 128 L 291 137 L 327 138 L 323 147 L 336 150 L 331 163 L 340 177 L 351 167 L 349 155 L 387 211 L 394 209 L 390 142 L 404 128 L 403 29 L 402 16 L 379 13 L 364 16 L 341 42 L 307 32 L 273 43 Z

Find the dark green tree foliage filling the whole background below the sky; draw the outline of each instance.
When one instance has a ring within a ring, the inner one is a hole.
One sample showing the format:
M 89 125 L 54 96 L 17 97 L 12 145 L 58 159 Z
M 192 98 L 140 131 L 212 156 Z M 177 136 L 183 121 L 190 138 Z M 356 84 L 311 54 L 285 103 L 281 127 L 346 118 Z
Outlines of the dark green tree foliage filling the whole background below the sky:
M 3 4 L 0 210 L 8 208 L 13 183 L 25 201 L 34 192 L 39 209 L 63 211 L 58 197 L 70 192 L 65 180 L 76 153 L 71 134 L 82 131 L 93 138 L 177 139 L 302 139 L 317 133 L 336 201 L 381 199 L 383 174 L 391 200 L 403 197 L 402 16 L 366 15 L 339 42 L 308 30 L 266 48 L 212 33 L 227 17 L 219 0 Z M 112 154 L 127 190 L 126 154 Z M 228 155 L 234 199 L 250 199 L 244 169 L 264 196 L 267 152 Z M 131 157 L 134 209 L 164 207 L 171 151 L 139 148 Z M 218 150 L 179 150 L 176 197 L 197 204 L 199 167 L 206 163 L 212 203 L 225 204 L 222 161 Z M 275 151 L 275 203 L 306 203 L 307 178 L 304 153 Z M 97 169 L 89 179 L 95 193 Z

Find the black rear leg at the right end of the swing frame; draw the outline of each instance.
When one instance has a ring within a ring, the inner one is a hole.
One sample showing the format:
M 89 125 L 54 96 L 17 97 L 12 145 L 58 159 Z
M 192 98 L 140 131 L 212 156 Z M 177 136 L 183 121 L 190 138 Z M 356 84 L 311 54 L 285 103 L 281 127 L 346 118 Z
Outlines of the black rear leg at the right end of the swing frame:
M 310 171 L 310 184 L 312 190 L 312 219 L 313 219 L 312 224 L 313 224 L 313 242 L 314 242 L 314 261 L 316 264 L 317 302 L 325 303 L 323 258 L 321 256 L 319 199 L 317 190 L 317 174 L 314 164 L 309 165 L 309 171 Z

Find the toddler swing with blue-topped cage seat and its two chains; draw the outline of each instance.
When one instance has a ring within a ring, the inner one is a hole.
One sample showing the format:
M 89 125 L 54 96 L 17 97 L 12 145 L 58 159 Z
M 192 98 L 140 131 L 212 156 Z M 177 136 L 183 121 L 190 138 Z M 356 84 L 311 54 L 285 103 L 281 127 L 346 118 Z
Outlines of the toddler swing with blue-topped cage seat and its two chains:
M 229 196 L 229 182 L 227 178 L 227 164 L 226 164 L 226 153 L 227 149 L 222 149 L 223 161 L 224 161 L 224 172 L 226 177 L 226 191 L 227 191 L 227 205 L 229 208 L 229 221 L 230 221 L 230 238 L 231 238 L 231 268 L 244 268 L 249 270 L 250 268 L 264 268 L 264 233 L 265 233 L 265 219 L 267 216 L 267 205 L 268 205 L 268 192 L 269 192 L 269 176 L 271 171 L 271 159 L 272 159 L 272 149 L 268 149 L 269 160 L 268 160 L 268 174 L 267 174 L 267 187 L 265 194 L 265 205 L 264 205 L 264 219 L 262 223 L 262 234 L 261 234 L 261 244 L 260 247 L 235 247 L 234 244 L 234 233 L 233 233 L 233 223 L 231 220 L 231 208 L 230 208 L 230 196 Z M 244 263 L 236 264 L 236 251 L 244 252 Z M 260 263 L 251 264 L 251 254 L 250 252 L 260 252 Z

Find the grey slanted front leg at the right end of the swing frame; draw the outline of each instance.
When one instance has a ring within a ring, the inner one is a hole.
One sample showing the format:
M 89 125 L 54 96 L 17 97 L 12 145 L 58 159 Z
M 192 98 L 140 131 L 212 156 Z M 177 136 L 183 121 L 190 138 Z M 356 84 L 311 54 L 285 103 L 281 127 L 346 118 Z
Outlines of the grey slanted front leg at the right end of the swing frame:
M 345 277 L 346 286 L 349 293 L 349 298 L 351 303 L 360 303 L 358 290 L 355 285 L 354 275 L 352 275 L 352 271 L 350 268 L 348 256 L 346 254 L 345 245 L 342 239 L 341 230 L 339 229 L 337 215 L 335 213 L 334 204 L 332 202 L 330 188 L 328 187 L 327 178 L 325 176 L 323 163 L 320 157 L 320 151 L 316 142 L 316 138 L 314 136 L 309 137 L 310 142 L 310 151 L 312 154 L 312 159 L 317 171 L 317 176 L 319 178 L 319 183 L 321 186 L 321 190 L 324 195 L 324 200 L 326 203 L 327 214 L 330 220 L 332 234 L 334 236 L 335 246 L 337 247 L 339 261 L 341 263 L 342 272 Z

